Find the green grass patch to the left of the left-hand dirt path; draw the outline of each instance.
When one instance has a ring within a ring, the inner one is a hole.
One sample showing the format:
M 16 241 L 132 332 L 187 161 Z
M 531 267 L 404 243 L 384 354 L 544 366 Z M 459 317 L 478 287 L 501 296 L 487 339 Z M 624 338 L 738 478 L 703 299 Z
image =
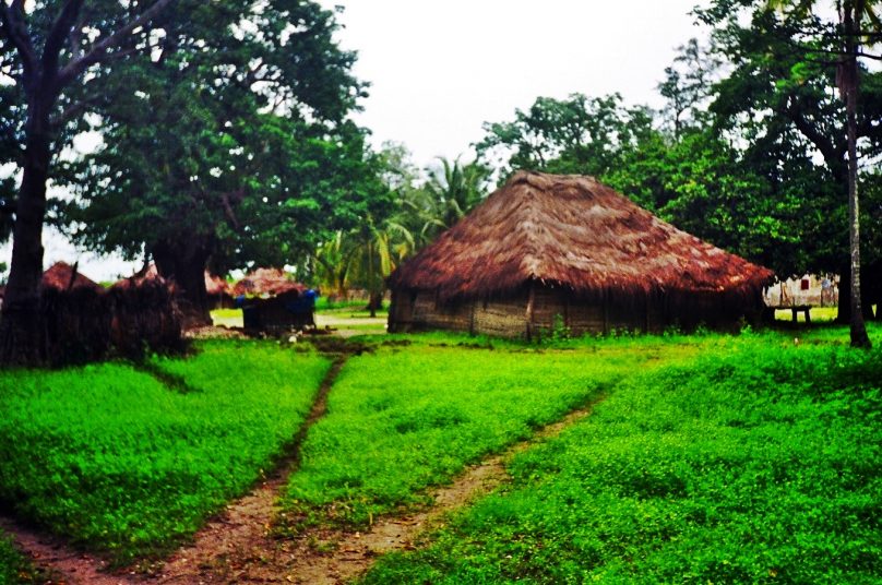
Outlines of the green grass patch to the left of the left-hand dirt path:
M 204 343 L 153 367 L 0 373 L 0 500 L 116 562 L 167 551 L 246 492 L 296 434 L 329 361 Z

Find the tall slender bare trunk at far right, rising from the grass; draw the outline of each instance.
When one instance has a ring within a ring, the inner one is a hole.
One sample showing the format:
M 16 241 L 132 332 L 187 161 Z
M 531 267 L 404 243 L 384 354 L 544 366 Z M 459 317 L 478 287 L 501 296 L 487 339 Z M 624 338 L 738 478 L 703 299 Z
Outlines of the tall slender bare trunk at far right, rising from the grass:
M 854 3 L 846 3 L 843 10 L 846 56 L 841 65 L 841 84 L 845 93 L 845 109 L 848 126 L 848 224 L 851 268 L 851 347 L 870 347 L 870 337 L 863 324 L 860 306 L 860 207 L 858 205 L 858 152 L 857 152 L 857 104 L 858 104 L 858 60 L 857 34 L 860 23 L 855 14 Z

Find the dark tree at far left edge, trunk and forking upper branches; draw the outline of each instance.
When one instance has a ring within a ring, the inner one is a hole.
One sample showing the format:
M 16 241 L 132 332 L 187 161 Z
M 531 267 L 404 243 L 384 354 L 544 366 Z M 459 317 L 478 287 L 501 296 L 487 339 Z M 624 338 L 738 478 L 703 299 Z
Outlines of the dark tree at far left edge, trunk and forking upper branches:
M 0 107 L 4 141 L 13 142 L 22 171 L 14 206 L 12 263 L 0 315 L 0 362 L 38 363 L 39 299 L 46 187 L 64 133 L 82 121 L 78 100 L 99 64 L 124 60 L 153 46 L 154 19 L 171 0 L 0 2 L 0 71 L 12 81 Z M 10 203 L 4 203 L 10 205 Z

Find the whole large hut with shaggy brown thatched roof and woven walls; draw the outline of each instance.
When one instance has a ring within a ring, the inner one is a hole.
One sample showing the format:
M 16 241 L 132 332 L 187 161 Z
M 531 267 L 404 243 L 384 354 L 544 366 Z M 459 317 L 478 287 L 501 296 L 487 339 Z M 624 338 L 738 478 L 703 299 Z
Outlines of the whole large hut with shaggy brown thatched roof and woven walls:
M 389 331 L 727 329 L 771 277 L 591 177 L 521 171 L 390 276 Z

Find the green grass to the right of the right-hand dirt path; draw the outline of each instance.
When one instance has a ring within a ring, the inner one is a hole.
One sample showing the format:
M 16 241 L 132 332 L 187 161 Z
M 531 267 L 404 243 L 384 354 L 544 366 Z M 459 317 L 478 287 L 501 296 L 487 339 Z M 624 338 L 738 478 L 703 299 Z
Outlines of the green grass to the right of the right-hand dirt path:
M 775 333 L 706 348 L 624 380 L 365 582 L 878 583 L 881 398 L 879 349 Z

